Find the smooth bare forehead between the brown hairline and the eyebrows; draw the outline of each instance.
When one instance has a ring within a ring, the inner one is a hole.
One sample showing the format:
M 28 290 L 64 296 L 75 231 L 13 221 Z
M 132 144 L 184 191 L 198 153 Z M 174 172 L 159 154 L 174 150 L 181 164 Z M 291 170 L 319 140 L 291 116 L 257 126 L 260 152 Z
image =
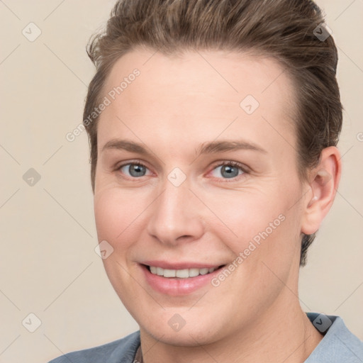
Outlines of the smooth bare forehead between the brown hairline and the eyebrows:
M 135 69 L 138 76 L 131 77 Z M 272 57 L 220 50 L 181 55 L 133 50 L 113 65 L 103 94 L 110 104 L 100 116 L 99 146 L 121 129 L 149 137 L 150 131 L 162 130 L 171 143 L 178 142 L 178 135 L 213 140 L 218 133 L 236 131 L 252 138 L 262 128 L 268 138 L 273 129 L 294 134 L 294 85 Z

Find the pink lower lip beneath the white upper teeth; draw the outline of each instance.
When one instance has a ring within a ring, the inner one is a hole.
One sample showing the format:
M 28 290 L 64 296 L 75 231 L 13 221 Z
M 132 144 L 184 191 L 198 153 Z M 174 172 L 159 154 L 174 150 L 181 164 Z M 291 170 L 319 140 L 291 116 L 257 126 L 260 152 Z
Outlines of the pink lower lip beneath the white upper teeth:
M 209 274 L 180 279 L 177 277 L 162 277 L 157 274 L 152 274 L 145 264 L 140 264 L 140 267 L 143 269 L 146 281 L 152 289 L 170 296 L 191 294 L 194 291 L 201 289 L 201 287 L 211 284 L 211 279 L 216 277 L 216 275 L 220 273 L 220 270 L 223 269 L 223 267 L 220 267 Z

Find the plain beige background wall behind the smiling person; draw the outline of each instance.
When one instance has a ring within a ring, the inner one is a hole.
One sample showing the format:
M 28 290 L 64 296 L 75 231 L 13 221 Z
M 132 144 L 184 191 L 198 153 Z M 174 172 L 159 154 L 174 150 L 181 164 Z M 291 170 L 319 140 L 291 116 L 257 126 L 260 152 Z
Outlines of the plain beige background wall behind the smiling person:
M 0 1 L 0 362 L 48 362 L 138 329 L 94 252 L 86 133 L 65 138 L 82 122 L 94 73 L 86 42 L 113 4 Z M 301 306 L 340 315 L 363 340 L 363 0 L 318 4 L 340 51 L 344 174 L 301 270 Z M 42 32 L 33 42 L 22 34 L 30 22 Z M 41 176 L 33 186 L 30 168 Z M 22 325 L 29 313 L 41 320 L 34 333 Z

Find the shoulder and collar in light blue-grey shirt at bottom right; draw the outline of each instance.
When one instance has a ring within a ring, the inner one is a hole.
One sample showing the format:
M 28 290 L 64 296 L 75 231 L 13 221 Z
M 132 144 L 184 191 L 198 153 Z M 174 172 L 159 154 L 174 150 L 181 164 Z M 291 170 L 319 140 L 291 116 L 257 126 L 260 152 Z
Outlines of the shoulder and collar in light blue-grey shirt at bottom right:
M 340 316 L 318 313 L 307 315 L 324 337 L 306 363 L 363 362 L 363 342 L 345 326 Z

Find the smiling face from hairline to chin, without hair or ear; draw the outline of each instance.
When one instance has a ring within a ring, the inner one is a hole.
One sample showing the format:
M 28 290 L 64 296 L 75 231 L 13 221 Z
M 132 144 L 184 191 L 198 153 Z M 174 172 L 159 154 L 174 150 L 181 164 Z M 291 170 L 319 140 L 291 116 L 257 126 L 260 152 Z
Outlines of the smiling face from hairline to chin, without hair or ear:
M 216 342 L 296 303 L 284 289 L 297 289 L 301 239 L 294 86 L 272 58 L 154 53 L 121 57 L 104 86 L 104 266 L 144 334 Z

